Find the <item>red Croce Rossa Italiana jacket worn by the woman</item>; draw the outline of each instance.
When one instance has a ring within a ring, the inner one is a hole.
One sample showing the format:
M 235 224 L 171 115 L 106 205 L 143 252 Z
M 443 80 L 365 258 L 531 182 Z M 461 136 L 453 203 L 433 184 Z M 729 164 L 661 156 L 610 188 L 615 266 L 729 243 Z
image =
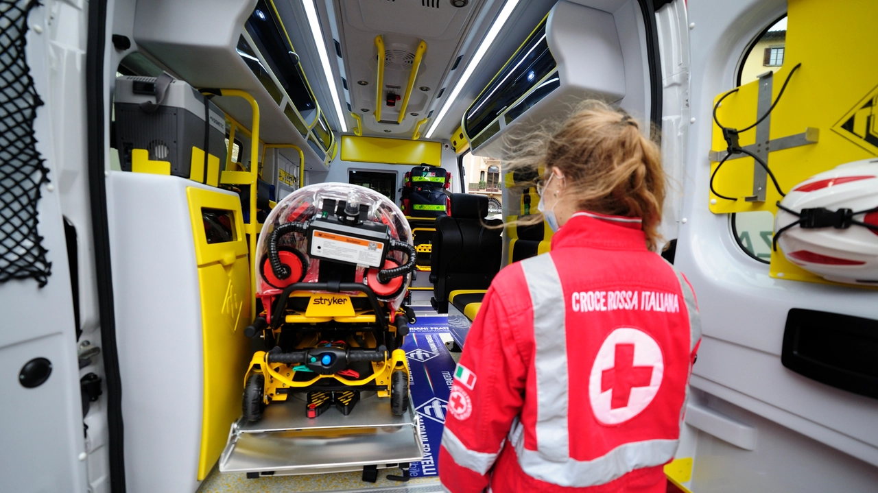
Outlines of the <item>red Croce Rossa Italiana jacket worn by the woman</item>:
M 445 488 L 664 493 L 701 339 L 691 286 L 640 219 L 578 212 L 504 268 L 455 372 Z

